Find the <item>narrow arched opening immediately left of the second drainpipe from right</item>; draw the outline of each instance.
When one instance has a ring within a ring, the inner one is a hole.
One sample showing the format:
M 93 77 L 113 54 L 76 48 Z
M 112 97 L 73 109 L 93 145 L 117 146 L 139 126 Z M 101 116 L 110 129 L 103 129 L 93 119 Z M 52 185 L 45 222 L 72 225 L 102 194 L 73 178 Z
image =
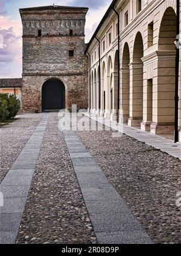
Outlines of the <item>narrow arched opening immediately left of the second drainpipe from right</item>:
M 107 95 L 106 95 L 106 117 L 110 117 L 111 113 L 111 87 L 112 87 L 112 59 L 109 56 L 107 62 Z

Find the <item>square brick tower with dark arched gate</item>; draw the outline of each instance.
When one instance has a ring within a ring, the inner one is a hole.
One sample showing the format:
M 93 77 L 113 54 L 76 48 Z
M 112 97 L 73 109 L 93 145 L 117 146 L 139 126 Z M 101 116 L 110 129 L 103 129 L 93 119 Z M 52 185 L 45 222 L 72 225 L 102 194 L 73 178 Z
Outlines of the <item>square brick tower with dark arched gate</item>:
M 88 107 L 84 25 L 88 8 L 20 9 L 23 26 L 22 110 Z

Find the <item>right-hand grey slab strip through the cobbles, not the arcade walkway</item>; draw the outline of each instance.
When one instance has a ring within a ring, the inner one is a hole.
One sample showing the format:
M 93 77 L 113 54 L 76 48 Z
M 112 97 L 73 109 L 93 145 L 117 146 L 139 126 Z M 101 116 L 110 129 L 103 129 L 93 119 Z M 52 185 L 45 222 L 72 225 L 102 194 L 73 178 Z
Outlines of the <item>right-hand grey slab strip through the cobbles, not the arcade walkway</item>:
M 98 243 L 152 243 L 78 136 L 72 131 L 63 135 Z

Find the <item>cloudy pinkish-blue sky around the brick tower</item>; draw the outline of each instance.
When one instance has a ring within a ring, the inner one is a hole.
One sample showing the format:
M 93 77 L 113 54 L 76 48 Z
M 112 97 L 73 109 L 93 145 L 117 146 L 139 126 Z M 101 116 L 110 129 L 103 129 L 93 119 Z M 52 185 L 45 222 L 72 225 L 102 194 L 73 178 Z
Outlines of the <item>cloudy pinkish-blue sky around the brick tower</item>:
M 91 36 L 112 0 L 0 0 L 0 78 L 22 76 L 22 23 L 19 8 L 44 5 L 88 7 L 85 41 Z

